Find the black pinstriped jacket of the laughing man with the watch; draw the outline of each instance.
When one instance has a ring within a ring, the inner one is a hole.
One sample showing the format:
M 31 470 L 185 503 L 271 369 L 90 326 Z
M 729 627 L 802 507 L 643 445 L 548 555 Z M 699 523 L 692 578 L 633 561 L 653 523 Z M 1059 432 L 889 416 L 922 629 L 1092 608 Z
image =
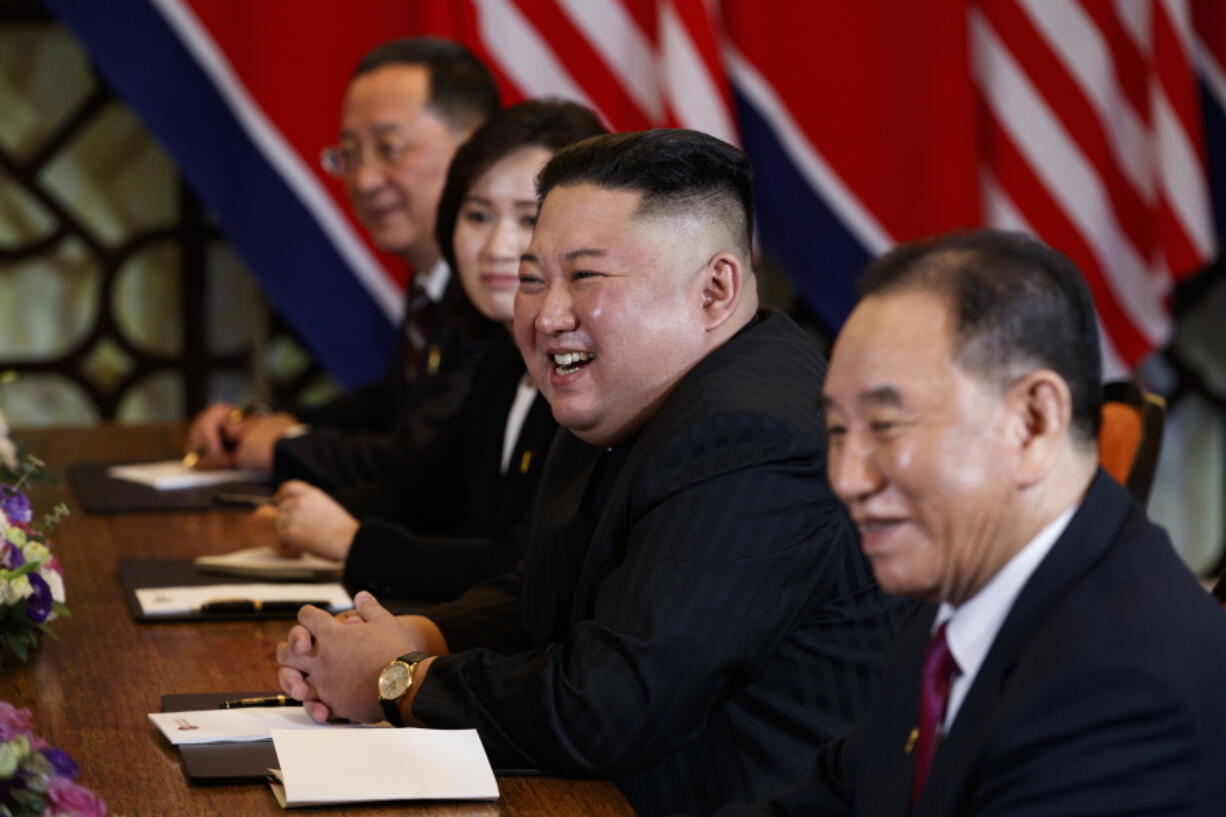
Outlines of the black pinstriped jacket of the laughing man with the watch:
M 862 710 L 896 611 L 825 481 L 813 342 L 770 314 L 689 372 L 630 444 L 562 431 L 525 563 L 432 613 L 413 713 L 495 765 L 608 777 L 642 815 L 770 792 Z

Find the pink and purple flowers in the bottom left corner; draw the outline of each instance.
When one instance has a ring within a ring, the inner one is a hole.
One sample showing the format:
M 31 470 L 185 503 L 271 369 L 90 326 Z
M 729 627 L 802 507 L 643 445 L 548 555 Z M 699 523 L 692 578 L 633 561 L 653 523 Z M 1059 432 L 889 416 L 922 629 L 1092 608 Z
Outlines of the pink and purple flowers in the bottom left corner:
M 34 735 L 28 709 L 0 700 L 0 815 L 105 817 L 107 804 L 76 775 L 67 753 Z

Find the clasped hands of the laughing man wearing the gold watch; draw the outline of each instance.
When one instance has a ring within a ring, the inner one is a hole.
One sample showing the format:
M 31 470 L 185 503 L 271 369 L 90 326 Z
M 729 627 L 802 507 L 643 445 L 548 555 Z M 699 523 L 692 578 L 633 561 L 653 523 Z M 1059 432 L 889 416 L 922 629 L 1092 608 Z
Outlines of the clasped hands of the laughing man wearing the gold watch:
M 302 700 L 306 714 L 320 723 L 330 718 L 363 724 L 383 720 L 379 673 L 397 656 L 428 648 L 418 632 L 369 593 L 359 593 L 353 604 L 358 616 L 343 621 L 319 607 L 303 607 L 298 624 L 277 644 L 281 688 Z

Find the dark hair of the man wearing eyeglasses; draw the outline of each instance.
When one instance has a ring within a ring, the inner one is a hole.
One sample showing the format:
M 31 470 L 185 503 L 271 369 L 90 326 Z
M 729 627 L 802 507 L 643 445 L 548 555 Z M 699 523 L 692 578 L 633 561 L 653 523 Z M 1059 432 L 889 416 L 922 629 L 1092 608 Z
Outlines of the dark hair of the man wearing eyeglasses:
M 451 128 L 466 130 L 501 107 L 485 65 L 460 43 L 443 37 L 402 37 L 367 52 L 349 82 L 387 65 L 422 65 L 430 75 L 429 109 Z

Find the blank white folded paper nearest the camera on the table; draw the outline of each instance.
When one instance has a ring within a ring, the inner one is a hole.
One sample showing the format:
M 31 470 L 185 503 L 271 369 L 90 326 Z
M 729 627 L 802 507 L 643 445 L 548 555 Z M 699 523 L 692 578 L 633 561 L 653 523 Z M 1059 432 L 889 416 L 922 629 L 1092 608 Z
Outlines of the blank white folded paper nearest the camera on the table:
M 498 800 L 473 729 L 272 729 L 286 802 Z

